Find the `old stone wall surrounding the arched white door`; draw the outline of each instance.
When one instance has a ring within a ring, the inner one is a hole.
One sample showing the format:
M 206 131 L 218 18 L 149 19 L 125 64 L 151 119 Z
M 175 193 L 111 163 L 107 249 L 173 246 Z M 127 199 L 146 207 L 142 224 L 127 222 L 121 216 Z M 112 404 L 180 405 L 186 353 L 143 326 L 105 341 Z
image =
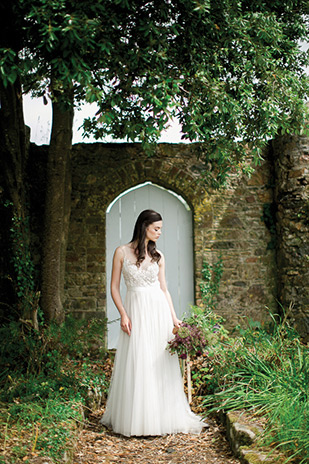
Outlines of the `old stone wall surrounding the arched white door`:
M 265 205 L 273 204 L 272 166 L 251 179 L 235 176 L 227 190 L 203 188 L 198 146 L 161 144 L 149 157 L 138 144 L 73 147 L 72 216 L 65 306 L 80 317 L 103 317 L 106 307 L 105 212 L 127 189 L 152 181 L 180 194 L 194 216 L 196 301 L 203 259 L 222 254 L 218 312 L 229 326 L 245 316 L 265 321 L 276 309 L 275 251 Z M 163 218 L 164 219 L 164 218 Z

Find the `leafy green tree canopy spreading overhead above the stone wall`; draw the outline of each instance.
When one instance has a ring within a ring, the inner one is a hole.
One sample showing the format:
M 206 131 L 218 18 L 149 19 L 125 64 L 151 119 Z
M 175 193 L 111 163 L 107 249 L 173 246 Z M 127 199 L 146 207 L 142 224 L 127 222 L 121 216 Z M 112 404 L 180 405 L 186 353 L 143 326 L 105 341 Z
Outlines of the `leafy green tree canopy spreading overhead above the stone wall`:
M 227 174 L 248 150 L 258 162 L 276 134 L 305 129 L 308 10 L 307 0 L 19 0 L 22 37 L 0 50 L 0 75 L 39 95 L 53 76 L 64 102 L 73 86 L 76 105 L 98 105 L 84 123 L 98 139 L 155 142 L 177 119 Z

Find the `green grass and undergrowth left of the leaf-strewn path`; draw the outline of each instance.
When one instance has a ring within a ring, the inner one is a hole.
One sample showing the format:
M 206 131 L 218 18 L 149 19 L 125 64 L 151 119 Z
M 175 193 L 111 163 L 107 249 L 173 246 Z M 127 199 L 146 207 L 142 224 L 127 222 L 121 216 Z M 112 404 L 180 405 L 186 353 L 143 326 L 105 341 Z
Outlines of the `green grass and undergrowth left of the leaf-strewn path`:
M 64 462 L 85 408 L 99 405 L 107 393 L 105 349 L 97 343 L 102 329 L 71 318 L 40 333 L 14 322 L 2 326 L 0 464 L 35 456 Z

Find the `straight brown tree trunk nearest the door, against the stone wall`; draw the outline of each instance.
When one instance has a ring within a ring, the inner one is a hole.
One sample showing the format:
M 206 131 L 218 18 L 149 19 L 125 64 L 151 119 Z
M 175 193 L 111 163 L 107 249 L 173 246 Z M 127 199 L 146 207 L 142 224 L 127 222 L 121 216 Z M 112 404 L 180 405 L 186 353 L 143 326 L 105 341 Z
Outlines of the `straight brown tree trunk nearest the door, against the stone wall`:
M 54 92 L 42 257 L 42 309 L 47 322 L 55 320 L 59 323 L 64 319 L 62 296 L 70 215 L 70 158 L 74 116 L 73 92 L 70 93 L 71 106 L 64 107 L 61 95 Z

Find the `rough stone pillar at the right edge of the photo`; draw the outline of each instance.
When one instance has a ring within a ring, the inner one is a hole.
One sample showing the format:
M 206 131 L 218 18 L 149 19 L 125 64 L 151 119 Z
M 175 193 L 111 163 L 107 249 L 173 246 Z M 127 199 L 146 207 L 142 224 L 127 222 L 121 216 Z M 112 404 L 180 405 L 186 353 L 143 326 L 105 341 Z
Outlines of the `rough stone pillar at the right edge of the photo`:
M 273 142 L 277 203 L 278 296 L 309 340 L 309 139 Z

